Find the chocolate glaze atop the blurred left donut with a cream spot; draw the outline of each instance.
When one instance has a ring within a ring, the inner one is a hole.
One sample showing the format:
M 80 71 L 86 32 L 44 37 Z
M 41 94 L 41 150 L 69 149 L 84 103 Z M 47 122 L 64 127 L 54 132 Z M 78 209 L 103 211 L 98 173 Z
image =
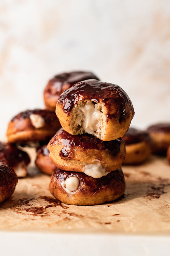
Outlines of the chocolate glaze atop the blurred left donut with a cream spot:
M 23 111 L 23 112 L 17 114 L 15 117 L 13 117 L 11 121 L 15 122 L 15 121 L 18 121 L 18 120 L 22 120 L 24 118 L 29 118 L 31 114 L 38 114 L 38 115 L 40 115 L 42 118 L 44 118 L 45 123 L 47 125 L 49 125 L 49 126 L 54 121 L 58 120 L 58 118 L 56 117 L 56 114 L 51 112 L 51 111 L 35 109 L 35 110 Z

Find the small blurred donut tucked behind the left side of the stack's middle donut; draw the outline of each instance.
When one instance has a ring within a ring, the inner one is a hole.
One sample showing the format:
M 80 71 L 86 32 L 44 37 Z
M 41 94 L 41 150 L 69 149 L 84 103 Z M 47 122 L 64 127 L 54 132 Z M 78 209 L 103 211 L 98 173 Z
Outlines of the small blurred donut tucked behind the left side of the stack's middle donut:
M 53 174 L 53 171 L 57 168 L 55 164 L 49 158 L 50 151 L 47 149 L 47 145 L 41 146 L 37 150 L 35 164 L 40 169 L 40 171 L 45 174 Z

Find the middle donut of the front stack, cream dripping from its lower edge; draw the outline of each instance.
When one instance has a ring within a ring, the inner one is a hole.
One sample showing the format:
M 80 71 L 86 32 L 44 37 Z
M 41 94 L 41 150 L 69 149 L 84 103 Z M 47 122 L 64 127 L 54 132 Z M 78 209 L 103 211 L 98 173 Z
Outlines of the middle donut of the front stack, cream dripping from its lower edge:
M 53 136 L 47 149 L 58 168 L 84 172 L 94 178 L 119 169 L 126 154 L 121 138 L 106 142 L 91 134 L 71 135 L 63 128 Z

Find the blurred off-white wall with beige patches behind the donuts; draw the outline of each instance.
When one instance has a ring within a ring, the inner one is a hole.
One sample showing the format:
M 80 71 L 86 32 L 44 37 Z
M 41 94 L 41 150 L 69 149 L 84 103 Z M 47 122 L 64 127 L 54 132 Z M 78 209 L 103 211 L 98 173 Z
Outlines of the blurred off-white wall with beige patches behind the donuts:
M 169 0 L 1 0 L 0 138 L 20 111 L 44 107 L 55 74 L 94 71 L 130 96 L 132 126 L 170 120 Z

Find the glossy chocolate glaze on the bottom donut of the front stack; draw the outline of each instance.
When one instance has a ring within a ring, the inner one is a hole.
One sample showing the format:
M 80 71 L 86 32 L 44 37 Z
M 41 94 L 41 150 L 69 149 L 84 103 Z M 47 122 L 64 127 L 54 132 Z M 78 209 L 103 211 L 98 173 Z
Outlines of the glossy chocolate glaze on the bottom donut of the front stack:
M 91 192 L 96 192 L 100 189 L 102 189 L 104 186 L 110 185 L 112 181 L 114 181 L 114 186 L 120 186 L 122 184 L 125 185 L 124 175 L 119 168 L 116 171 L 112 171 L 106 176 L 102 176 L 101 178 L 93 178 L 91 176 L 88 176 L 84 174 L 83 172 L 69 172 L 69 171 L 63 171 L 61 169 L 56 169 L 53 174 L 53 178 L 56 178 L 58 182 L 62 182 L 66 180 L 68 177 L 77 177 L 79 179 L 79 187 L 81 193 L 83 193 L 84 186 L 86 187 L 85 193 L 87 193 L 87 190 Z

